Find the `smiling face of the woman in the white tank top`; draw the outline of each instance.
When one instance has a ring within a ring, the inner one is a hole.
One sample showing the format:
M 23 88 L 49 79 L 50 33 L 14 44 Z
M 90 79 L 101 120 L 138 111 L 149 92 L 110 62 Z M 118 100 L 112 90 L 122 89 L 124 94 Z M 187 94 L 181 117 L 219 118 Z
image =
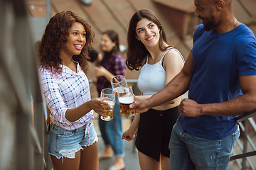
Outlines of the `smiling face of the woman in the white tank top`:
M 137 23 L 137 39 L 142 41 L 146 47 L 154 47 L 159 43 L 159 31 L 158 26 L 147 18 L 142 18 L 142 20 Z

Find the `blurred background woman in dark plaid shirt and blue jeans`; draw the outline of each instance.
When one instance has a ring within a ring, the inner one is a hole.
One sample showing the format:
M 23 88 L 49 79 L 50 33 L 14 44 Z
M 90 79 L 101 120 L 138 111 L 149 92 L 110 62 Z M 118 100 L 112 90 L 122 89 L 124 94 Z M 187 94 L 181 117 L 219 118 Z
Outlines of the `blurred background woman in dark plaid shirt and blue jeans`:
M 100 67 L 95 67 L 97 77 L 97 91 L 100 95 L 102 89 L 112 88 L 110 80 L 116 75 L 125 74 L 125 61 L 119 50 L 118 34 L 114 30 L 106 30 L 102 33 L 101 47 L 104 52 Z M 99 119 L 100 132 L 105 144 L 104 152 L 100 153 L 100 159 L 116 156 L 114 164 L 109 170 L 124 169 L 124 141 L 122 140 L 122 116 L 119 111 L 119 102 L 116 98 L 113 119 L 106 122 Z

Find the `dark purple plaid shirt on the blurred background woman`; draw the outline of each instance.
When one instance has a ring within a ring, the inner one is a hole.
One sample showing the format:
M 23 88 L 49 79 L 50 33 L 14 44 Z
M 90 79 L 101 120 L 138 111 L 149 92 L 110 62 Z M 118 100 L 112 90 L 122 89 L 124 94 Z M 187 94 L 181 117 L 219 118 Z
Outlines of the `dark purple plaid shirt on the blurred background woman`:
M 100 62 L 102 67 L 105 67 L 109 72 L 116 75 L 123 75 L 125 74 L 125 61 L 124 57 L 119 54 L 112 54 L 110 56 L 110 52 L 105 52 L 103 60 Z M 100 92 L 102 89 L 107 87 L 111 87 L 110 81 L 108 81 L 105 77 L 99 77 L 97 80 L 97 91 L 100 96 Z

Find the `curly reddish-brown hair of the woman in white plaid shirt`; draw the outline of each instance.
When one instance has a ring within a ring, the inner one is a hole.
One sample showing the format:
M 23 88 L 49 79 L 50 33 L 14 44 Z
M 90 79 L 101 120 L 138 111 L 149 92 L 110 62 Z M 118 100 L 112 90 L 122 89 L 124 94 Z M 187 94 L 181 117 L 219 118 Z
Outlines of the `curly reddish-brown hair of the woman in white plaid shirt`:
M 74 55 L 73 60 L 80 64 L 83 72 L 87 72 L 88 60 L 90 59 L 88 49 L 91 49 L 92 43 L 96 42 L 95 33 L 85 19 L 72 11 L 62 11 L 50 18 L 39 45 L 40 65 L 42 68 L 49 69 L 53 74 L 62 72 L 60 67 L 62 60 L 59 57 L 60 49 L 64 48 L 66 42 L 68 42 L 70 28 L 75 22 L 84 26 L 86 42 L 80 55 Z

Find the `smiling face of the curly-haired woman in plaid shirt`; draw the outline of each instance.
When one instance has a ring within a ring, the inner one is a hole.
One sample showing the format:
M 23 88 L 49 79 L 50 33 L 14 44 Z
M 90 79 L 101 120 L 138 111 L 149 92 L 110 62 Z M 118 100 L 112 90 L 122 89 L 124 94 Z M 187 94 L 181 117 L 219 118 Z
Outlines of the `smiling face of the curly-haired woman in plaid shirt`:
M 73 23 L 68 34 L 68 41 L 61 51 L 66 55 L 80 55 L 82 48 L 85 46 L 85 35 L 85 28 L 82 23 Z

